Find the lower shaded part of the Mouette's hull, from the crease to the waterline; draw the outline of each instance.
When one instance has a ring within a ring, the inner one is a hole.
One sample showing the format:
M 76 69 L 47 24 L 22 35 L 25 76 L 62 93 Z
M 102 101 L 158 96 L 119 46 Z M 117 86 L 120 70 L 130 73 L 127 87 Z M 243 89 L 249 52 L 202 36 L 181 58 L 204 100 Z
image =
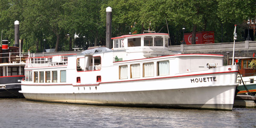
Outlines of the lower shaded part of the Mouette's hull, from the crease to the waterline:
M 236 85 L 111 93 L 23 93 L 26 99 L 91 105 L 232 110 Z M 212 90 L 212 93 L 209 93 Z

